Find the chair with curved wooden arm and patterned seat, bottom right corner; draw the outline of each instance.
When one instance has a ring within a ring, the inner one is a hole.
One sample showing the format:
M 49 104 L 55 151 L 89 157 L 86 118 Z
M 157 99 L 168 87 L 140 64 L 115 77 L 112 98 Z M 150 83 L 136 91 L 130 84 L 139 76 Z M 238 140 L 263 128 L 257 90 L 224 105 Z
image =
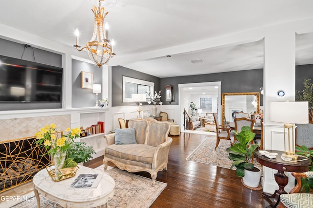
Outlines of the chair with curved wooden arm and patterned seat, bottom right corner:
M 301 178 L 313 178 L 313 171 L 292 172 L 297 180 L 297 185 L 289 194 L 280 195 L 280 203 L 277 208 L 312 208 L 313 193 L 298 193 L 301 189 Z

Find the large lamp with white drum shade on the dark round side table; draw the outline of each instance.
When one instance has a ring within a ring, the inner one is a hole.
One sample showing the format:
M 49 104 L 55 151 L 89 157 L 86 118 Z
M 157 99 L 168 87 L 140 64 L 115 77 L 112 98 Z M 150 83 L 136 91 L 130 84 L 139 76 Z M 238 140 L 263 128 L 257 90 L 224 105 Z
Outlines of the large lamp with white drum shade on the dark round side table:
M 270 102 L 270 120 L 284 124 L 285 154 L 282 159 L 285 161 L 297 161 L 295 155 L 293 124 L 309 123 L 309 103 L 308 102 Z

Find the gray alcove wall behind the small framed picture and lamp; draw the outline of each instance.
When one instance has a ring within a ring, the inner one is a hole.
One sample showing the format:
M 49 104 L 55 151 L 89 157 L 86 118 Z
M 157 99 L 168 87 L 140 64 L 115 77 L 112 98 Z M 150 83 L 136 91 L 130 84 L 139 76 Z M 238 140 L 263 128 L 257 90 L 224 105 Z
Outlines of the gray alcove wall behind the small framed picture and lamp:
M 102 67 L 72 59 L 72 108 L 93 107 L 96 103 L 96 94 L 92 89 L 81 88 L 81 72 L 93 73 L 93 83 L 102 85 Z M 98 100 L 102 98 L 98 94 Z M 100 104 L 100 103 L 99 103 Z

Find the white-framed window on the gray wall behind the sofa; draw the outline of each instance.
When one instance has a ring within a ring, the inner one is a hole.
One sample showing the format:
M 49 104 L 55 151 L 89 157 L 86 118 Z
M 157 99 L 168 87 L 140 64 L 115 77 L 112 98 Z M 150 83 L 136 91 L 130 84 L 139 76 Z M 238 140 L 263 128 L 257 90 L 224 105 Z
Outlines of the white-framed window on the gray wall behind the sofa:
M 132 94 L 154 92 L 155 83 L 123 76 L 123 103 L 132 102 Z

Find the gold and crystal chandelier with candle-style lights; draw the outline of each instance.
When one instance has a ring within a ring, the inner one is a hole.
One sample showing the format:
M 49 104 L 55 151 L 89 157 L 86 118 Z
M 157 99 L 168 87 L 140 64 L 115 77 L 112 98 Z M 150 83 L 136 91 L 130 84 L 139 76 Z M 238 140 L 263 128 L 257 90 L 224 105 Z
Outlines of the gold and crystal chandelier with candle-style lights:
M 115 55 L 113 48 L 114 40 L 110 41 L 109 39 L 109 24 L 106 22 L 103 25 L 103 20 L 109 12 L 104 14 L 104 7 L 101 7 L 101 1 L 99 0 L 98 8 L 93 5 L 93 9 L 91 9 L 94 14 L 94 26 L 90 41 L 86 43 L 86 47 L 80 49 L 81 46 L 78 45 L 79 31 L 76 29 L 76 45 L 73 45 L 78 51 L 86 48 L 89 59 L 97 64 L 99 68 Z

